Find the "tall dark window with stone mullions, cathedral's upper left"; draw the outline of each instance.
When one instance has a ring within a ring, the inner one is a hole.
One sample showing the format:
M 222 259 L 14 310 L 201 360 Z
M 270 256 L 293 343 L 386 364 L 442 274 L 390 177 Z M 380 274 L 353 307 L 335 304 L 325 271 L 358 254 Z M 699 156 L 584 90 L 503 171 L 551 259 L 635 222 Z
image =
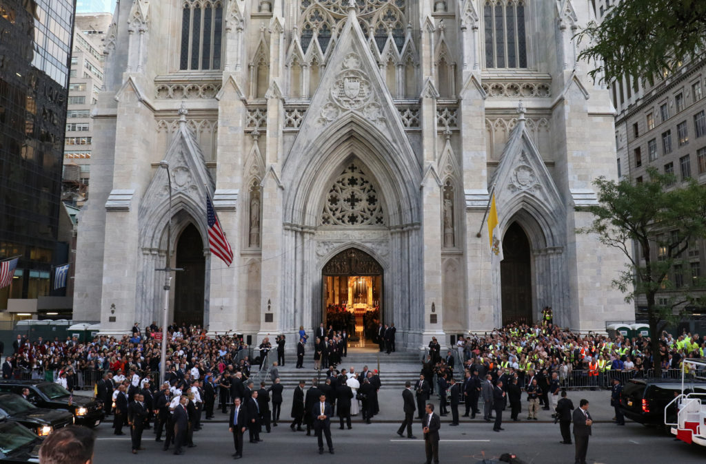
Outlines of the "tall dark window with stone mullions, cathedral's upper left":
M 220 1 L 184 0 L 179 69 L 220 69 L 223 6 Z

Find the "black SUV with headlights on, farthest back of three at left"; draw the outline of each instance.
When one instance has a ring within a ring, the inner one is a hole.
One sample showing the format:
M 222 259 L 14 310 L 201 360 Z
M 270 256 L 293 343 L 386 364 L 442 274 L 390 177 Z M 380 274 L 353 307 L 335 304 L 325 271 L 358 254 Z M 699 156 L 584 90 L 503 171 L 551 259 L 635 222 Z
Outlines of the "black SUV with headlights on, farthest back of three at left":
M 0 393 L 22 394 L 29 389 L 28 401 L 39 408 L 60 409 L 73 414 L 73 422 L 96 427 L 104 418 L 103 404 L 90 396 L 71 396 L 59 384 L 39 380 L 0 380 Z

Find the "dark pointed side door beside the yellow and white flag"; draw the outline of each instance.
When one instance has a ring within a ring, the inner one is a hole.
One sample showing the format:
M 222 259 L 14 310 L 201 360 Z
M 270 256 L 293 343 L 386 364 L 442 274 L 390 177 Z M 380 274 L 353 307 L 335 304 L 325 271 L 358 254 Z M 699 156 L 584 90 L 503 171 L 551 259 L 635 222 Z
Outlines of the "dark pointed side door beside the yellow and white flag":
M 524 229 L 513 222 L 503 237 L 500 263 L 503 325 L 532 323 L 532 257 L 530 240 Z

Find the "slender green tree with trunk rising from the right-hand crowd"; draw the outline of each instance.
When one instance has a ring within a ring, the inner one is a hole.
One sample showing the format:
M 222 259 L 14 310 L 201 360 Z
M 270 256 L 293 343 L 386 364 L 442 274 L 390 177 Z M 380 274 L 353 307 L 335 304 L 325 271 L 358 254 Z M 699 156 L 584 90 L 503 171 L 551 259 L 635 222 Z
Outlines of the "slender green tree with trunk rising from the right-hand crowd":
M 628 302 L 640 297 L 647 300 L 653 367 L 659 377 L 659 339 L 666 324 L 674 319 L 676 308 L 704 303 L 693 292 L 700 287 L 698 279 L 684 286 L 675 274 L 680 266 L 688 269 L 687 250 L 706 237 L 706 188 L 693 180 L 675 185 L 674 175 L 660 174 L 654 168 L 647 171 L 650 180 L 641 183 L 604 177 L 594 181 L 598 190 L 598 204 L 590 207 L 594 220 L 578 232 L 595 234 L 627 258 L 626 269 L 613 285 Z M 668 298 L 658 299 L 660 293 Z

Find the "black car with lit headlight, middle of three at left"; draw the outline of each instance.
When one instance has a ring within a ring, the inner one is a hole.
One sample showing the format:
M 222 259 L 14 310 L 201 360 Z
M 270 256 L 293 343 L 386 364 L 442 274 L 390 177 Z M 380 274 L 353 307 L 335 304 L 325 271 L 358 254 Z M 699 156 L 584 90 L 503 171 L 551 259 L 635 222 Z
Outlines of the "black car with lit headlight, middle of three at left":
M 37 408 L 22 396 L 0 393 L 0 415 L 20 422 L 39 436 L 47 436 L 56 429 L 73 424 L 73 415 L 68 411 Z

